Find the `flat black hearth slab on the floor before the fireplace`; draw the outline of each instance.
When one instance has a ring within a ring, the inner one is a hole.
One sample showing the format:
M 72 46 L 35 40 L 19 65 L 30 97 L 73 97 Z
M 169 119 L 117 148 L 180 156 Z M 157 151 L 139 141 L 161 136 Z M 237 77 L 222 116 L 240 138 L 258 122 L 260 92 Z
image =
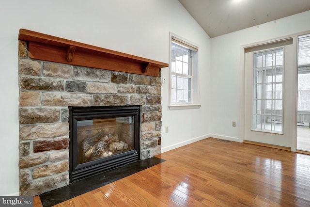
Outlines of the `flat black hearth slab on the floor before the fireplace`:
M 164 161 L 164 159 L 155 157 L 136 161 L 102 174 L 93 175 L 91 177 L 78 180 L 60 189 L 43 193 L 40 195 L 40 199 L 43 207 L 51 207 L 62 203 L 63 201 L 77 197 L 83 193 L 93 191 L 94 189 L 122 179 L 128 175 L 138 173 L 141 170 L 145 170 Z

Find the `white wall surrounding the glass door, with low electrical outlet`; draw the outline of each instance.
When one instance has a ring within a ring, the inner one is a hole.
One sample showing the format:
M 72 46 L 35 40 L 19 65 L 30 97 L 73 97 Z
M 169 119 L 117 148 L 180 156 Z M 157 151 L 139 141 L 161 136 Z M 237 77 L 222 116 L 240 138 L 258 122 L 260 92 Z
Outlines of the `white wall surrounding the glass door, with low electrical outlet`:
M 310 31 L 310 11 L 211 39 L 211 134 L 242 142 L 239 132 L 242 46 Z M 309 32 L 310 33 L 310 32 Z M 237 126 L 232 127 L 232 122 Z

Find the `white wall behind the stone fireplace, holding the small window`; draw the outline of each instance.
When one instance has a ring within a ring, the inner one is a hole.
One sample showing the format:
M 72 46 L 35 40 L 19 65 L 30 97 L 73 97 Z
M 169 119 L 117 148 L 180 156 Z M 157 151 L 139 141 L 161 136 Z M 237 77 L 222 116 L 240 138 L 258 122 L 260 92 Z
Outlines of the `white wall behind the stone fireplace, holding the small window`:
M 87 2 L 87 3 L 86 3 Z M 210 38 L 178 0 L 10 0 L 0 7 L 0 195 L 18 193 L 17 36 L 20 28 L 169 63 L 169 32 L 200 47 L 201 109 L 170 111 L 162 76 L 162 148 L 210 130 Z M 207 78 L 206 78 L 207 77 Z M 4 144 L 5 143 L 5 144 Z

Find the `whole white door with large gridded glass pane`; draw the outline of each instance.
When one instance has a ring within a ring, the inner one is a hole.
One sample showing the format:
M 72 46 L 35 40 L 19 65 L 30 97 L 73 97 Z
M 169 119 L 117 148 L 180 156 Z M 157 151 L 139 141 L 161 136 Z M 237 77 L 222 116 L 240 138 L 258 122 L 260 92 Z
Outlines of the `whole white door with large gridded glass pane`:
M 246 49 L 244 140 L 295 149 L 296 48 L 291 38 Z

